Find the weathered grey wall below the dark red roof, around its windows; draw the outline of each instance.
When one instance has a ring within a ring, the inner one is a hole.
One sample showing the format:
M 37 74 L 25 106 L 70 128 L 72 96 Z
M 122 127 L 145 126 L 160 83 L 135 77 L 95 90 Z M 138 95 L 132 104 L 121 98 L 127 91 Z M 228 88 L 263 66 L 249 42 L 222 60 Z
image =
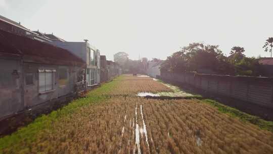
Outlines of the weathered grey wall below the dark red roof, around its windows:
M 0 119 L 12 115 L 28 107 L 60 98 L 71 96 L 75 91 L 77 74 L 80 75 L 81 67 L 62 66 L 68 68 L 68 83 L 59 84 L 59 65 L 47 65 L 24 62 L 18 59 L 0 59 Z M 39 92 L 38 69 L 56 69 L 53 75 L 53 90 Z M 26 85 L 26 74 L 33 74 L 33 84 Z

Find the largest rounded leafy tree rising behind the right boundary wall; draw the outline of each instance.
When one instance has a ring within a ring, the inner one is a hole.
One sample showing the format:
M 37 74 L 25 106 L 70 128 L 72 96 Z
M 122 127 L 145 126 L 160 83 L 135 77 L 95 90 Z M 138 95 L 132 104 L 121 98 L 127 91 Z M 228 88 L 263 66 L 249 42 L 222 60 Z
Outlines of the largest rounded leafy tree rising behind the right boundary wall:
M 223 60 L 223 54 L 215 45 L 205 45 L 202 43 L 192 43 L 187 47 L 181 48 L 180 51 L 167 57 L 161 70 L 181 72 L 181 71 L 198 71 L 199 69 L 222 70 L 227 60 Z M 225 64 L 219 64 L 223 62 Z

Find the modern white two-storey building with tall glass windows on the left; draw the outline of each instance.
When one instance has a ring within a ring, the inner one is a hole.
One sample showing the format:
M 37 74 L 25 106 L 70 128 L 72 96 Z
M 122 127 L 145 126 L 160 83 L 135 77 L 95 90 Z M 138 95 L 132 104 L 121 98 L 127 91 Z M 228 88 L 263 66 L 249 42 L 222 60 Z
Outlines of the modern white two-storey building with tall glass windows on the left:
M 51 45 L 68 50 L 85 62 L 85 80 L 90 89 L 100 84 L 100 50 L 85 42 L 48 42 Z

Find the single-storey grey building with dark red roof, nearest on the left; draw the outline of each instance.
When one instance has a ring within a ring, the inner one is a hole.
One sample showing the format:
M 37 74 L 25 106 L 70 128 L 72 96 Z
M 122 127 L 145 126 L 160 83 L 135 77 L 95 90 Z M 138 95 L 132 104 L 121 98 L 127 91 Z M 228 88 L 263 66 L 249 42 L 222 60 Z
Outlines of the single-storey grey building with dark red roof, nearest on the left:
M 0 119 L 85 90 L 82 59 L 21 34 L 0 30 L 0 67 Z

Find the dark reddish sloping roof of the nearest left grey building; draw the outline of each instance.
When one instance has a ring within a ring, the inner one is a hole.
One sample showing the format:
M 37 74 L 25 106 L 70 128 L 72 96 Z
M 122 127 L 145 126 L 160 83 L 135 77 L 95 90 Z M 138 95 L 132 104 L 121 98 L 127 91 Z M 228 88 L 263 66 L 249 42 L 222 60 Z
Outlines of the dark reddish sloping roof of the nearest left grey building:
M 15 54 L 23 57 L 35 57 L 35 62 L 47 62 L 50 64 L 84 65 L 85 62 L 69 51 L 52 46 L 47 43 L 33 40 L 26 36 L 7 32 L 0 29 L 0 52 Z

